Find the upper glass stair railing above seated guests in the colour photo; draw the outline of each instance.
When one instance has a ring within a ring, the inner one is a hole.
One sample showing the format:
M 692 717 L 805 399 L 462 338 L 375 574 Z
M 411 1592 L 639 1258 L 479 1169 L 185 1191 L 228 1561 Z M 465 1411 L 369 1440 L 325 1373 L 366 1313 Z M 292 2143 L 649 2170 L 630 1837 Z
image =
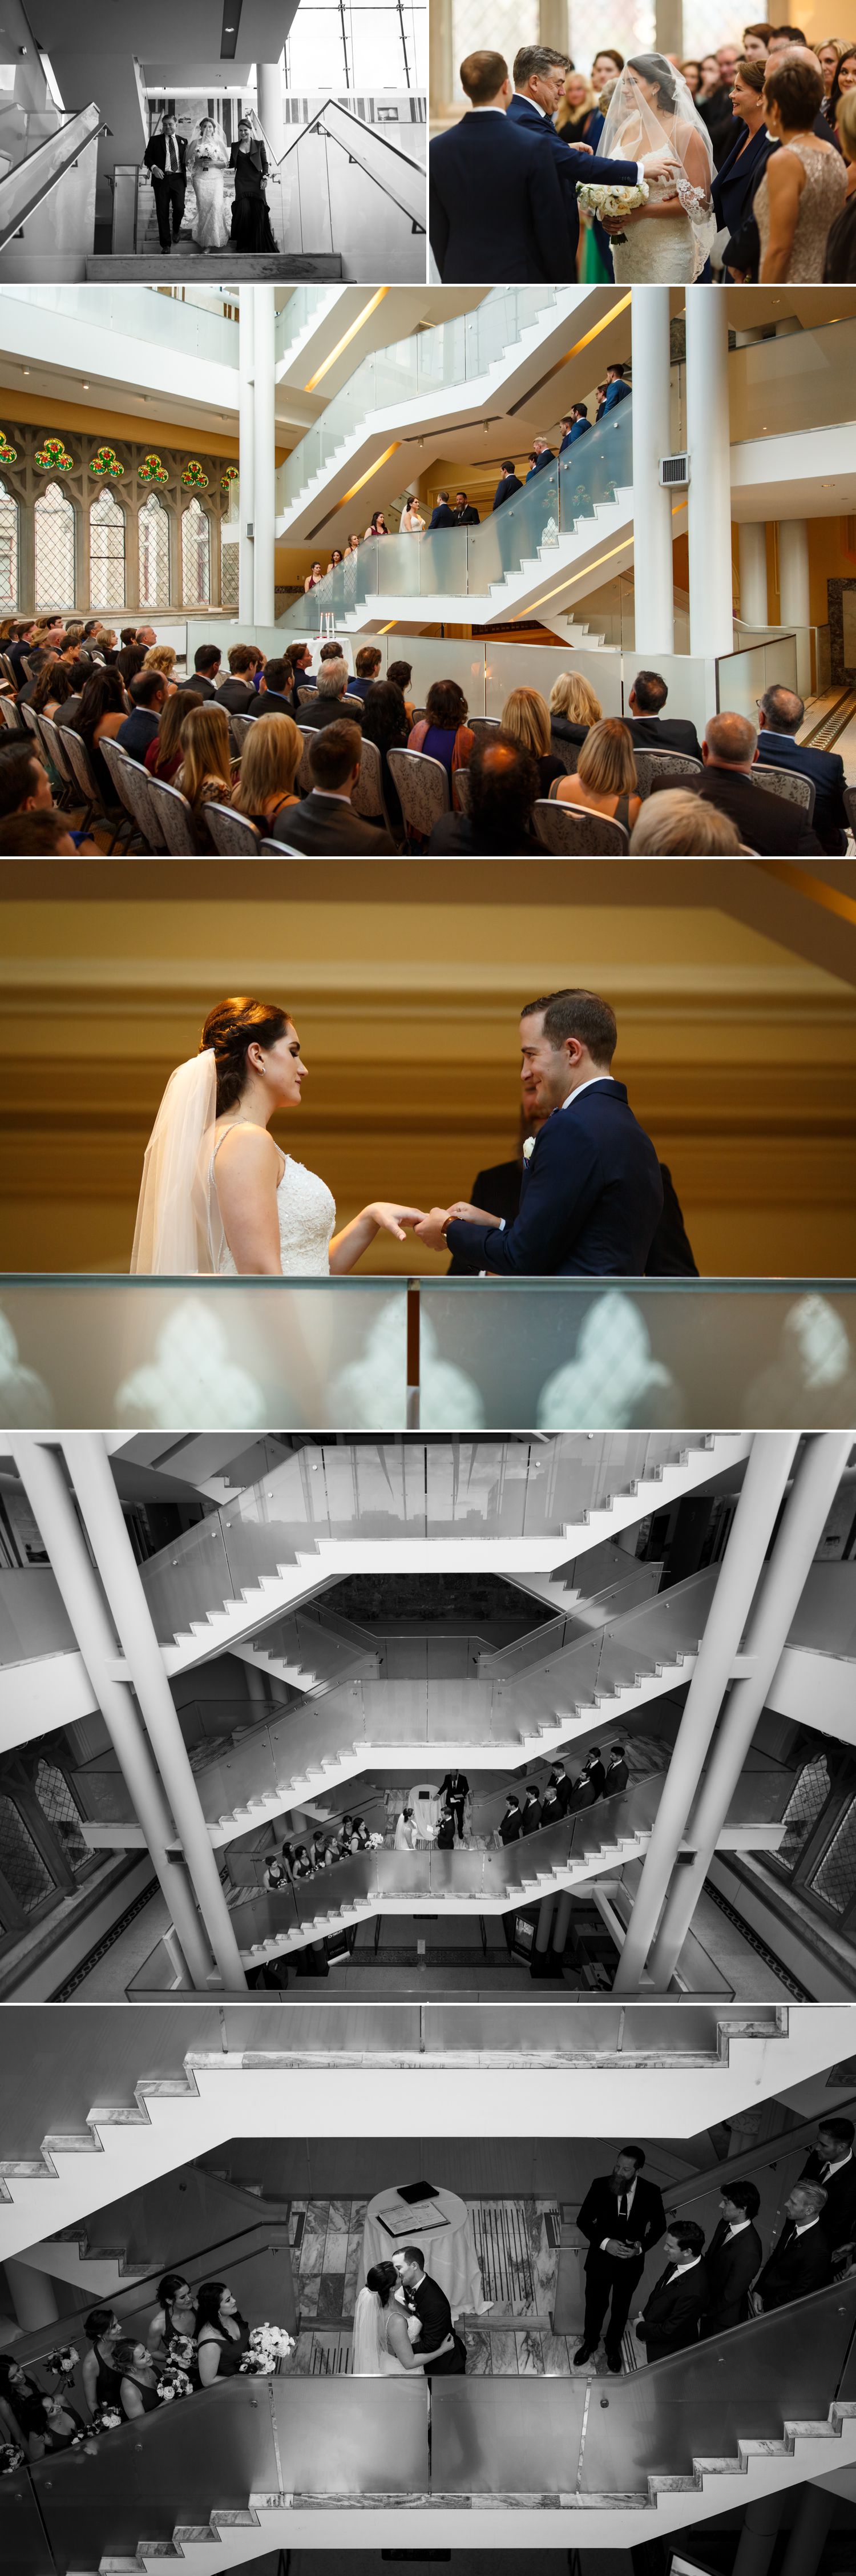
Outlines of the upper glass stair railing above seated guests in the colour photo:
M 358 142 L 369 131 L 358 126 Z M 284 160 L 286 170 L 289 157 Z M 325 404 L 312 430 L 291 448 L 291 456 L 286 456 L 276 477 L 276 507 L 291 507 L 371 412 L 400 412 L 402 404 L 425 399 L 425 394 L 446 389 L 454 394 L 456 384 L 485 376 L 487 368 L 498 366 L 516 348 L 523 332 L 536 327 L 539 314 L 554 304 L 554 286 L 495 286 L 472 314 L 451 314 L 449 322 L 413 332 L 407 340 L 394 340 L 389 348 L 371 350 L 353 368 L 348 384 Z

